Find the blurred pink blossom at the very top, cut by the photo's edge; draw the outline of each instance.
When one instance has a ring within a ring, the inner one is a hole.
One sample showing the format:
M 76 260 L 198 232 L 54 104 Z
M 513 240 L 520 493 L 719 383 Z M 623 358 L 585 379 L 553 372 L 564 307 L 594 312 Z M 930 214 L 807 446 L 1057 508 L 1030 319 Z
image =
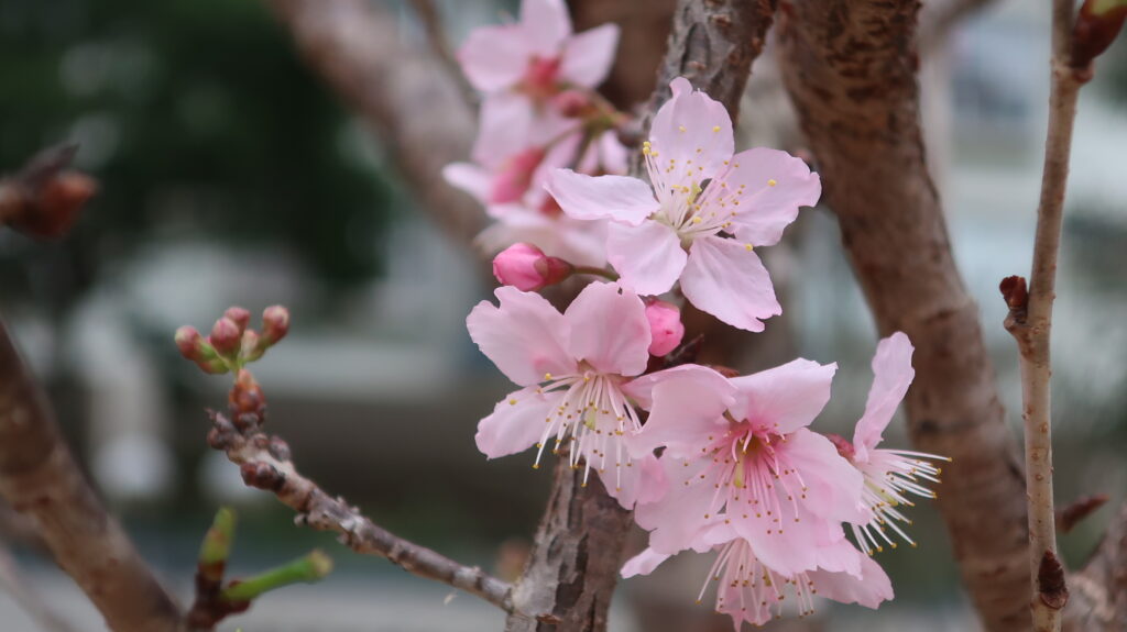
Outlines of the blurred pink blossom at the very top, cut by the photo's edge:
M 618 43 L 613 24 L 574 35 L 564 0 L 523 0 L 521 21 L 474 30 L 458 60 L 482 92 L 509 90 L 545 99 L 569 87 L 602 83 Z

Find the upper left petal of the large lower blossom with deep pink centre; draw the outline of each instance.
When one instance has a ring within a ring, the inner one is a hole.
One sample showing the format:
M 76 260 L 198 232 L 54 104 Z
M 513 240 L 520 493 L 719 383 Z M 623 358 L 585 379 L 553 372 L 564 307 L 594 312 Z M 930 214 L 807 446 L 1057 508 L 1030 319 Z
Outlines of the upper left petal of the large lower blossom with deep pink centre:
M 630 388 L 632 385 L 637 386 Z M 628 439 L 630 453 L 647 454 L 664 445 L 665 454 L 675 459 L 700 455 L 701 448 L 710 443 L 709 436 L 724 432 L 728 422 L 722 415 L 736 395 L 724 376 L 695 364 L 646 374 L 624 390 L 631 395 L 649 391 L 649 418 L 641 432 Z

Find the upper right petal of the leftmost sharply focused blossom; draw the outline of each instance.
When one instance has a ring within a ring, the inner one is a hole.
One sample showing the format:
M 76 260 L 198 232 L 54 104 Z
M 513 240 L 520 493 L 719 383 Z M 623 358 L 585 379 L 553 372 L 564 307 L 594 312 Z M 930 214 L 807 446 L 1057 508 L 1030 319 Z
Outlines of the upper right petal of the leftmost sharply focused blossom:
M 570 356 L 598 372 L 637 376 L 649 362 L 649 320 L 638 295 L 614 283 L 589 283 L 564 313 Z

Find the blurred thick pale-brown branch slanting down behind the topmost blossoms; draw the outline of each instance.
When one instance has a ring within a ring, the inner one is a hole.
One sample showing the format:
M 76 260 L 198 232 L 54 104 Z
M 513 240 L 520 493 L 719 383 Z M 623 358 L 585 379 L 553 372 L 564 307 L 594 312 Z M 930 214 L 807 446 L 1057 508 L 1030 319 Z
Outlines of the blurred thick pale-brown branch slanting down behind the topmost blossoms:
M 473 118 L 441 63 L 366 0 L 267 0 L 305 61 L 376 133 L 421 210 L 469 246 L 486 216 L 442 168 L 465 160 Z

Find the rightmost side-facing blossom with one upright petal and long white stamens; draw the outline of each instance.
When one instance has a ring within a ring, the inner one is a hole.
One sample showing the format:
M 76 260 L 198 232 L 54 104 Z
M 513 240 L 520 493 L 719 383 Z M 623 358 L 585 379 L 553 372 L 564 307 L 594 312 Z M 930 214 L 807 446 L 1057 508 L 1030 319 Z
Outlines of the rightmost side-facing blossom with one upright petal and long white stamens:
M 831 436 L 837 451 L 864 476 L 863 500 L 871 509 L 872 518 L 866 524 L 853 525 L 853 534 L 869 554 L 884 551 L 886 543 L 896 548 L 896 542 L 888 535 L 889 529 L 908 544 L 916 545 L 900 526 L 900 523 L 912 524 L 912 521 L 898 507 L 911 507 L 909 496 L 934 498 L 935 493 L 924 485 L 938 484 L 941 470 L 929 459 L 949 460 L 923 452 L 877 448 L 915 378 L 913 351 L 908 336 L 902 332 L 880 341 L 872 359 L 872 388 L 864 414 L 853 431 L 853 442 Z

